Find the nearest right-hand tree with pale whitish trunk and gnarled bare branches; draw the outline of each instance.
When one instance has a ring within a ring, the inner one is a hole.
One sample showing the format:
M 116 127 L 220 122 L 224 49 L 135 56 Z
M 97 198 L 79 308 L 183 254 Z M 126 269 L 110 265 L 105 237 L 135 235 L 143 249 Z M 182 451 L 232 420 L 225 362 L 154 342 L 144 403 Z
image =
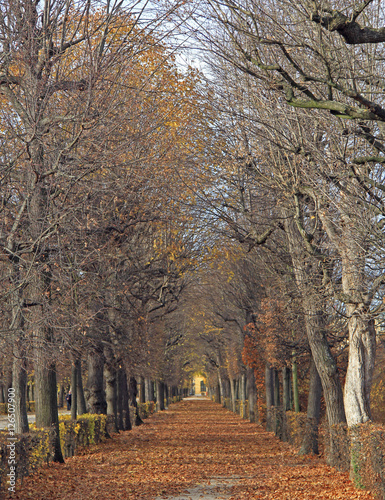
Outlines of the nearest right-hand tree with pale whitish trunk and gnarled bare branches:
M 334 125 L 341 141 L 335 149 L 339 153 L 333 160 L 329 156 L 328 169 L 309 142 L 298 140 L 292 151 L 298 149 L 302 164 L 311 164 L 312 168 L 322 165 L 320 174 L 324 184 L 328 184 L 322 193 L 314 184 L 309 190 L 308 185 L 300 186 L 299 191 L 314 200 L 324 229 L 341 257 L 342 293 L 350 332 L 345 410 L 349 426 L 365 422 L 370 419 L 369 393 L 375 356 L 373 299 L 383 282 L 379 269 L 367 274 L 369 254 L 362 252 L 370 245 L 369 234 L 376 235 L 376 244 L 382 238 L 378 240 L 379 228 L 376 229 L 377 214 L 383 210 L 380 130 L 384 114 L 382 63 L 378 62 L 383 28 L 376 27 L 383 18 L 381 7 L 376 8 L 373 2 L 353 3 L 347 15 L 343 9 L 306 1 L 211 5 L 227 36 L 227 43 L 222 44 L 225 48 L 219 51 L 214 42 L 214 50 L 265 88 L 274 89 L 290 106 L 327 110 L 335 116 Z M 360 24 L 364 12 L 373 21 L 372 26 Z M 234 51 L 227 50 L 229 47 Z M 346 127 L 341 118 L 357 120 L 357 127 Z M 325 140 L 321 111 L 318 119 L 320 138 L 315 145 L 328 158 L 331 143 L 337 140 L 330 136 Z M 342 144 L 348 146 L 345 153 Z M 346 193 L 347 198 L 330 198 L 331 190 Z M 339 227 L 337 212 L 341 214 Z M 358 224 L 362 218 L 369 224 L 371 229 L 365 225 L 369 232 Z M 358 359 L 363 362 L 358 363 Z

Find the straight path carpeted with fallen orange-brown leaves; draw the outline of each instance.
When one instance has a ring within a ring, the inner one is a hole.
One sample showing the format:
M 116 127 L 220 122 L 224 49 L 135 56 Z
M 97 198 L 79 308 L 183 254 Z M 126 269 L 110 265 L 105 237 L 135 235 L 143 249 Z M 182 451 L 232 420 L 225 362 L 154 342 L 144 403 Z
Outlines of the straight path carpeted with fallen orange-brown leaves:
M 348 475 L 299 457 L 209 400 L 185 400 L 64 465 L 43 467 L 12 500 L 373 500 Z

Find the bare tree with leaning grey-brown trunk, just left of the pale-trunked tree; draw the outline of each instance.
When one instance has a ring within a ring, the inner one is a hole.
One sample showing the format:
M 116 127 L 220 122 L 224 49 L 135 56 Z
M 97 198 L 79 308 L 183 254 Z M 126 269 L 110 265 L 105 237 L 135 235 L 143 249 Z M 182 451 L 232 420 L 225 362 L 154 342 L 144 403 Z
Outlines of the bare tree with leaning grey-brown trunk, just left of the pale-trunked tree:
M 310 145 L 319 124 L 310 124 L 302 111 L 285 109 L 274 91 L 231 71 L 226 62 L 212 61 L 211 71 L 222 83 L 217 98 L 223 121 L 218 120 L 217 133 L 223 134 L 225 146 L 217 157 L 219 189 L 206 198 L 209 210 L 223 221 L 222 231 L 227 225 L 230 237 L 264 260 L 264 272 L 274 275 L 275 283 L 296 282 L 291 293 L 302 297 L 329 422 L 344 422 L 340 374 L 326 328 L 332 307 L 326 283 L 330 287 L 338 281 L 338 259 L 326 244 L 320 218 L 314 216 L 318 205 L 308 194 L 315 185 L 323 186 L 313 175 L 319 170 L 314 164 L 306 168 L 297 152 L 298 142 L 307 139 Z

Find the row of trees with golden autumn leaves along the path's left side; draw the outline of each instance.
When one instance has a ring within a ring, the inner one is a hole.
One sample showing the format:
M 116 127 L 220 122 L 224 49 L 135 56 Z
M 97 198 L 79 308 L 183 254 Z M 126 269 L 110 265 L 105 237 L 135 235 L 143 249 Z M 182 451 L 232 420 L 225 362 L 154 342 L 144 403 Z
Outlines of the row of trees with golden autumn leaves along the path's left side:
M 182 181 L 204 149 L 206 104 L 164 43 L 176 8 L 1 6 L 1 343 L 17 432 L 32 370 L 36 424 L 57 429 L 58 364 L 72 365 L 73 417 L 86 361 L 88 410 L 117 427 L 134 377 L 150 399 L 150 381 L 180 379 L 164 318 L 198 259 Z

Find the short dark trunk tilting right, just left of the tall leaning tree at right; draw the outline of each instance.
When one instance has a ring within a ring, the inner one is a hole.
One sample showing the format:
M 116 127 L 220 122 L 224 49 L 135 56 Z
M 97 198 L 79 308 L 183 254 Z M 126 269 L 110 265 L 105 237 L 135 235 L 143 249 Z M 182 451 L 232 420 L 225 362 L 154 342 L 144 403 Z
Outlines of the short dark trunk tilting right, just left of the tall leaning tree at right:
M 310 384 L 307 401 L 305 434 L 303 436 L 300 455 L 314 453 L 318 455 L 318 426 L 321 414 L 322 384 L 313 358 L 310 364 Z

